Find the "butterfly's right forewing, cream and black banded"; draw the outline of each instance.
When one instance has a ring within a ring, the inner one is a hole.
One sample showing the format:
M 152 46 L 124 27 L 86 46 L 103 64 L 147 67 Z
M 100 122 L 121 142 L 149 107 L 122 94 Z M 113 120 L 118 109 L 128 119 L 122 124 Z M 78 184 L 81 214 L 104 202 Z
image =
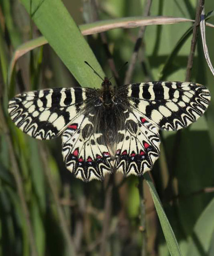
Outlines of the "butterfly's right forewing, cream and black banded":
M 210 92 L 198 83 L 147 82 L 122 86 L 118 95 L 146 119 L 168 131 L 195 122 L 208 107 Z

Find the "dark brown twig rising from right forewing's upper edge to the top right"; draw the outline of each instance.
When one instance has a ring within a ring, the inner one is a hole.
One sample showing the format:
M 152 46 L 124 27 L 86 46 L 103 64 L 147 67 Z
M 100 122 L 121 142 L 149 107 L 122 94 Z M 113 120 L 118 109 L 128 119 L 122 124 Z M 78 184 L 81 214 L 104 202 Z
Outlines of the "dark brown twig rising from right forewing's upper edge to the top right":
M 190 55 L 189 55 L 188 62 L 187 62 L 186 81 L 190 81 L 190 77 L 191 77 L 191 71 L 192 71 L 192 67 L 193 67 L 193 58 L 194 58 L 195 50 L 196 50 L 198 28 L 200 25 L 201 13 L 202 13 L 202 9 L 204 6 L 204 2 L 205 2 L 205 0 L 199 0 L 199 5 L 196 10 L 196 19 L 195 19 L 195 23 L 193 26 L 193 37 L 192 37 L 192 41 L 191 41 Z

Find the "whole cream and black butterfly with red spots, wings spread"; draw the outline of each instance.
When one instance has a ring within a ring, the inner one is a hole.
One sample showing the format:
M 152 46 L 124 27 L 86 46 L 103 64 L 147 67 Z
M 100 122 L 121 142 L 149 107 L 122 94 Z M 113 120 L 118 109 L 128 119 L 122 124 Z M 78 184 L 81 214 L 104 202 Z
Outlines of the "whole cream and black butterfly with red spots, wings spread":
M 101 89 L 54 88 L 21 93 L 9 101 L 9 115 L 39 140 L 62 136 L 65 166 L 88 182 L 120 170 L 143 175 L 160 155 L 159 130 L 195 122 L 210 92 L 192 82 L 144 82 Z

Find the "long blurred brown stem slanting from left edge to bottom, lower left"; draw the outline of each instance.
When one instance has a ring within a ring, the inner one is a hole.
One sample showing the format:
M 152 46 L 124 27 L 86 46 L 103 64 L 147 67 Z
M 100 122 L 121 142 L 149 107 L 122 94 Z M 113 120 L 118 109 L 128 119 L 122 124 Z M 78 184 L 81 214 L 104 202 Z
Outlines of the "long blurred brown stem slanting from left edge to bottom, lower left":
M 14 147 L 13 147 L 13 144 L 12 144 L 12 140 L 11 140 L 11 137 L 10 137 L 10 133 L 9 133 L 9 129 L 7 128 L 7 125 L 6 125 L 6 120 L 5 120 L 5 117 L 3 115 L 3 111 L 0 107 L 0 120 L 1 120 L 1 123 L 2 123 L 2 128 L 3 128 L 3 132 L 6 136 L 6 141 L 7 141 L 7 145 L 8 145 L 8 148 L 9 148 L 9 155 L 10 155 L 10 158 L 11 158 L 11 165 L 12 165 L 12 173 L 14 175 L 14 178 L 15 178 L 15 183 L 16 183 L 16 186 L 17 186 L 17 190 L 18 190 L 18 196 L 20 198 L 20 201 L 21 201 L 21 208 L 22 208 L 22 211 L 24 213 L 24 218 L 26 220 L 26 223 L 27 223 L 27 233 L 28 233 L 28 237 L 29 237 L 29 240 L 30 240 L 30 249 L 31 249 L 31 255 L 32 256 L 38 256 L 38 251 L 37 251 L 37 248 L 36 248 L 36 241 L 35 241 L 35 237 L 34 237 L 34 233 L 33 233 L 33 225 L 31 223 L 31 220 L 30 220 L 30 213 L 29 213 L 29 210 L 27 208 L 27 202 L 26 202 L 26 199 L 25 199 L 25 195 L 24 195 L 24 185 L 23 185 L 23 182 L 22 182 L 22 179 L 21 179 L 21 174 L 19 172 L 19 168 L 18 168 L 18 163 L 16 161 L 16 156 L 15 156 L 15 151 L 14 151 Z

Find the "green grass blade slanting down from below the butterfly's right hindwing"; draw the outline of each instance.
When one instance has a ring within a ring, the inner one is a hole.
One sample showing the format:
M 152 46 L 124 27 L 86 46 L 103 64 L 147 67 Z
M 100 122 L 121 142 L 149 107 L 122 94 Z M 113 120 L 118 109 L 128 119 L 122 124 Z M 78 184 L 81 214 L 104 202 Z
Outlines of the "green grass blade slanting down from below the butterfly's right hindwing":
M 163 230 L 163 234 L 166 238 L 166 243 L 168 245 L 169 252 L 172 256 L 181 256 L 182 254 L 181 254 L 180 248 L 178 246 L 178 242 L 175 238 L 175 234 L 174 234 L 172 227 L 169 224 L 169 220 L 167 219 L 166 214 L 163 210 L 163 206 L 160 202 L 160 198 L 159 198 L 158 193 L 155 189 L 155 186 L 152 182 L 152 179 L 150 178 L 148 172 L 146 172 L 143 175 L 143 177 L 146 179 L 146 182 L 149 185 L 149 190 L 152 194 L 152 198 L 153 198 L 153 201 L 155 204 L 156 211 L 158 213 L 158 217 L 160 220 L 160 225 Z

